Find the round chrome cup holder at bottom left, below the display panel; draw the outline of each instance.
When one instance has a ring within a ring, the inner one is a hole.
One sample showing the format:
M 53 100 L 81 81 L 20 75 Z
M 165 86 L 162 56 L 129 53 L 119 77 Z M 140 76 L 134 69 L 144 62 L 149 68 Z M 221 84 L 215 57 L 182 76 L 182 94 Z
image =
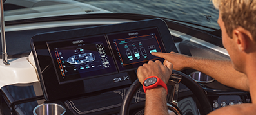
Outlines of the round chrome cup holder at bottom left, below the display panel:
M 35 107 L 33 110 L 34 115 L 63 115 L 65 112 L 66 109 L 63 106 L 56 103 L 44 103 L 41 105 L 37 105 L 37 107 Z

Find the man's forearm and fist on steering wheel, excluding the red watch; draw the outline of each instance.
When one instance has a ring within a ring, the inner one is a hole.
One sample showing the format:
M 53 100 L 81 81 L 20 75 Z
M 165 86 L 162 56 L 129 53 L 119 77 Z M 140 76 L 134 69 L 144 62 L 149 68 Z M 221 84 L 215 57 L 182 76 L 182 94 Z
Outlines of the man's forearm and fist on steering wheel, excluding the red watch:
M 137 70 L 137 76 L 139 82 L 143 84 L 143 81 L 150 76 L 157 76 L 165 83 L 168 82 L 170 75 L 172 75 L 172 64 L 168 61 L 162 64 L 159 60 L 155 62 L 149 61 L 148 64 L 143 64 Z M 168 114 L 167 102 L 166 102 L 166 89 L 161 85 L 146 90 L 146 103 L 145 114 Z

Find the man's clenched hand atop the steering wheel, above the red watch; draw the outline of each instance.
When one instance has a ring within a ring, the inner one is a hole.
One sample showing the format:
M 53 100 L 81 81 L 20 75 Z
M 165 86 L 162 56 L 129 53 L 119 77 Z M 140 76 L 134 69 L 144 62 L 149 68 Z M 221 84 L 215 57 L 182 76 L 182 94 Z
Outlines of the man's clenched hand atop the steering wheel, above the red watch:
M 164 61 L 164 64 L 159 60 L 148 61 L 148 64 L 143 64 L 137 70 L 137 76 L 139 78 L 139 82 L 143 84 L 143 81 L 150 76 L 157 76 L 161 80 L 163 80 L 166 84 L 172 75 L 172 63 L 168 61 Z

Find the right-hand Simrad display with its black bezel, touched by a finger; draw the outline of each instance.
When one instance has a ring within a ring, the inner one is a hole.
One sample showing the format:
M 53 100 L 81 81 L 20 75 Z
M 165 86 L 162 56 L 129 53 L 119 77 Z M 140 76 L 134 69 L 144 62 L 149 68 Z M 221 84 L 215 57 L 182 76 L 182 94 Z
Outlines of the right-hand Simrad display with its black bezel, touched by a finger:
M 157 28 L 108 35 L 119 69 L 135 69 L 148 60 L 161 59 L 152 52 L 166 52 Z M 161 59 L 162 60 L 162 59 Z

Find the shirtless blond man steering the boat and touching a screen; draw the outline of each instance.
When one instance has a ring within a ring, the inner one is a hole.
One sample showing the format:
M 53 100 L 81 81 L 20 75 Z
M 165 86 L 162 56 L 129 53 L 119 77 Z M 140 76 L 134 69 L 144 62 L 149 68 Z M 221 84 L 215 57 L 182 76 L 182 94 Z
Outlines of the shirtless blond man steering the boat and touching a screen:
M 231 61 L 188 57 L 178 53 L 152 53 L 166 59 L 148 62 L 138 68 L 139 81 L 158 76 L 165 83 L 172 69 L 196 69 L 212 76 L 224 85 L 249 91 L 252 103 L 222 107 L 210 114 L 256 114 L 256 1 L 213 0 L 219 9 L 218 24 L 222 43 Z M 145 114 L 168 114 L 166 89 L 161 85 L 146 90 Z

